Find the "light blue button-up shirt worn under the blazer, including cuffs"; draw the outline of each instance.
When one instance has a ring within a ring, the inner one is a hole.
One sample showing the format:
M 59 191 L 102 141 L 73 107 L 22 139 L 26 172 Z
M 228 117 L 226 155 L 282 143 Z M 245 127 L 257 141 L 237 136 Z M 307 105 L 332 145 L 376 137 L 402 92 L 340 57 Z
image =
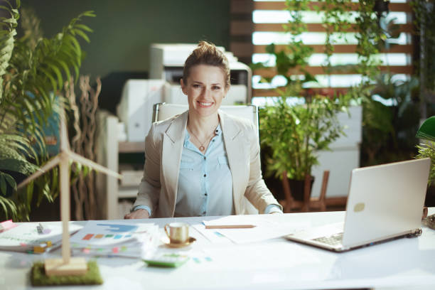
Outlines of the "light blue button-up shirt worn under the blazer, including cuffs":
M 138 205 L 134 210 L 144 209 L 151 215 L 146 205 Z M 281 209 L 268 205 L 264 213 Z M 220 124 L 205 153 L 190 142 L 186 129 L 176 200 L 176 216 L 234 215 L 232 202 L 232 175 L 228 165 L 227 152 Z

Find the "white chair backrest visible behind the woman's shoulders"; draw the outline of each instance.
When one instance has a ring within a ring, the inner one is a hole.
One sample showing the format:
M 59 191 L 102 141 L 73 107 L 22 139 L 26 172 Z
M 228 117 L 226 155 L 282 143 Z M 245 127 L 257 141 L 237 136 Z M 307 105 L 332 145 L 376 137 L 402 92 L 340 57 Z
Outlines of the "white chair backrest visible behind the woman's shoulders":
M 167 104 L 167 103 L 159 103 L 154 104 L 153 109 L 153 122 L 161 121 L 164 119 L 171 118 L 176 114 L 181 114 L 186 112 L 188 109 L 187 104 Z M 227 113 L 237 117 L 249 119 L 252 123 L 254 123 L 255 127 L 257 127 L 257 135 L 258 135 L 258 108 L 254 104 L 241 104 L 236 106 L 220 106 L 220 109 Z M 247 200 L 247 198 L 243 198 L 245 201 L 245 214 L 256 215 L 258 214 L 257 208 L 254 208 L 254 205 Z

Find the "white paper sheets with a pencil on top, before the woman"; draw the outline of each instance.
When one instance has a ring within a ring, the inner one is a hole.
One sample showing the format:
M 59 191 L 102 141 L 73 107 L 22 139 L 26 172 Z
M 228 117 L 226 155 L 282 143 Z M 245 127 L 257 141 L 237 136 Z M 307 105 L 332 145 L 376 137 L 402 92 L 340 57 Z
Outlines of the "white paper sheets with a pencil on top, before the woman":
M 247 242 L 260 242 L 270 240 L 284 235 L 289 235 L 296 230 L 301 230 L 307 225 L 275 222 L 271 220 L 264 220 L 259 216 L 245 215 L 245 216 L 228 216 L 217 218 L 215 220 L 207 220 L 203 222 L 203 227 L 199 225 L 194 226 L 196 230 L 201 232 L 210 242 L 215 242 L 215 235 L 211 232 L 218 232 L 220 235 L 227 237 L 236 244 Z M 210 228 L 207 228 L 210 227 Z

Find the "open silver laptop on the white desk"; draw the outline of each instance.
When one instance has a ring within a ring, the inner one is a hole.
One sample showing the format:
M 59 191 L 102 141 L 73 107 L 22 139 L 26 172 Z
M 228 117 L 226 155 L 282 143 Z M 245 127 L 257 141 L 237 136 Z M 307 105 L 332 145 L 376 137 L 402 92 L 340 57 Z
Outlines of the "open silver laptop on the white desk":
M 311 227 L 286 239 L 345 252 L 421 233 L 430 159 L 353 169 L 344 222 Z

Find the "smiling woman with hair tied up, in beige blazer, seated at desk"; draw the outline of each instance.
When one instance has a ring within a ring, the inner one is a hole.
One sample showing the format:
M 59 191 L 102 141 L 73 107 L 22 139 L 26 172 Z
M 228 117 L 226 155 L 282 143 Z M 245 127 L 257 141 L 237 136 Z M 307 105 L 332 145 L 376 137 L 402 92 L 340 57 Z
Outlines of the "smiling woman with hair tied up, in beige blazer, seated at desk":
M 189 109 L 152 125 L 144 178 L 125 218 L 242 215 L 244 196 L 259 213 L 282 213 L 262 178 L 254 124 L 219 110 L 230 88 L 222 51 L 200 42 L 186 60 L 181 88 Z

